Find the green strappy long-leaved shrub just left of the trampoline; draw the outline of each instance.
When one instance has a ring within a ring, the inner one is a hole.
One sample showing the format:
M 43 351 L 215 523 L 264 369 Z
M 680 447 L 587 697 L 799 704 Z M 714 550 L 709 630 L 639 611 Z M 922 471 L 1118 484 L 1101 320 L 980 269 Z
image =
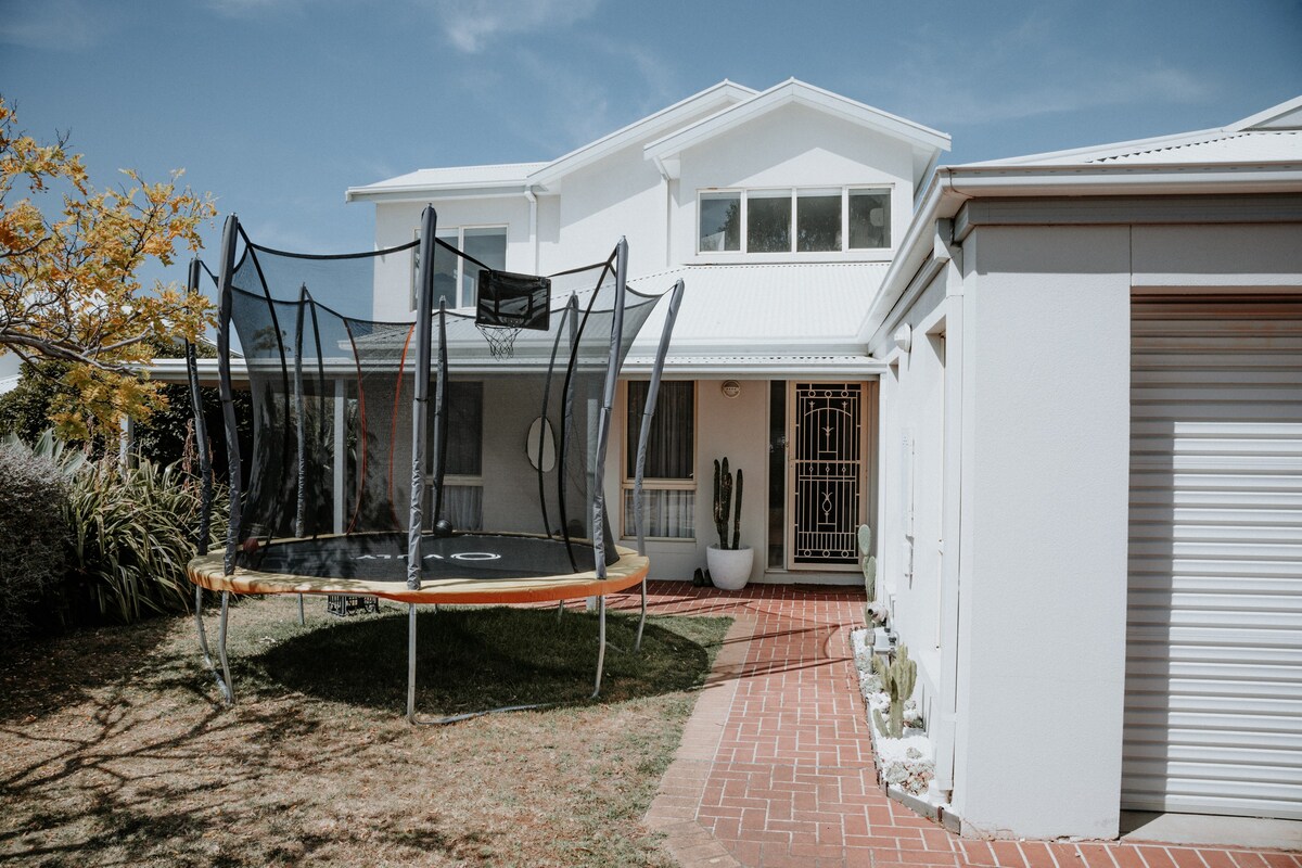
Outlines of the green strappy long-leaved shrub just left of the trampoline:
M 190 610 L 185 565 L 195 556 L 201 497 L 198 479 L 181 462 L 160 467 L 141 458 L 124 467 L 108 455 L 77 475 L 68 508 L 70 566 L 104 617 L 129 623 Z M 225 535 L 225 504 L 219 488 L 208 545 Z

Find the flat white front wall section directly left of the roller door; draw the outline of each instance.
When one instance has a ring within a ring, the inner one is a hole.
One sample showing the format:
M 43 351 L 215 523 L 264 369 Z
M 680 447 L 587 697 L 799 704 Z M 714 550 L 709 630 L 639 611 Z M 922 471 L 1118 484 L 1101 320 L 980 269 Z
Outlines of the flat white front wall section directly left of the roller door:
M 1117 833 L 1129 254 L 1128 228 L 965 245 L 954 807 L 986 834 Z

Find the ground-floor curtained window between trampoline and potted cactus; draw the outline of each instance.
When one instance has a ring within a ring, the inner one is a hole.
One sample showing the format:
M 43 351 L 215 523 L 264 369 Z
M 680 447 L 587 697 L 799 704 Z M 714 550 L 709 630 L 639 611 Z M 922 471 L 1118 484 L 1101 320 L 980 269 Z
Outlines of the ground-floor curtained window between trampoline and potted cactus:
M 633 487 L 646 381 L 628 384 L 624 449 L 624 535 L 637 535 Z M 656 393 L 642 468 L 642 521 L 647 536 L 693 539 L 697 508 L 697 384 L 667 380 Z

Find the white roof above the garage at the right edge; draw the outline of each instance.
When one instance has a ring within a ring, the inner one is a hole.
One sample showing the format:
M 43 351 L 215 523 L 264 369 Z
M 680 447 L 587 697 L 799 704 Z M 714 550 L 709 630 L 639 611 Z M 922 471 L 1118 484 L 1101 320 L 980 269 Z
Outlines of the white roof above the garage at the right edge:
M 1211 130 L 970 163 L 962 168 L 1122 164 L 1161 167 L 1298 160 L 1302 160 L 1302 96 Z

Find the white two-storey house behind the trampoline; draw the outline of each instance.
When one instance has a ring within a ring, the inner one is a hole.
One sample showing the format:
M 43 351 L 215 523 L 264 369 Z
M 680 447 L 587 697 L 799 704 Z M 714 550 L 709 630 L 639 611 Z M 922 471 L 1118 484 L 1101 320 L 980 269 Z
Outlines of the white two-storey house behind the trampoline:
M 630 285 L 661 292 L 681 277 L 646 466 L 652 576 L 704 566 L 719 539 L 713 461 L 727 457 L 746 478 L 751 580 L 858 582 L 885 370 L 861 331 L 948 147 L 943 133 L 794 79 L 763 92 L 725 81 L 551 161 L 421 169 L 348 200 L 374 203 L 379 247 L 410 242 L 432 204 L 440 238 L 492 268 L 548 275 L 603 260 L 622 236 Z M 437 292 L 473 306 L 474 277 L 440 275 Z M 375 318 L 414 316 L 413 286 L 414 263 L 389 263 Z M 659 333 L 654 319 L 625 366 L 618 459 L 607 462 L 625 537 L 637 428 L 622 420 L 641 413 Z

